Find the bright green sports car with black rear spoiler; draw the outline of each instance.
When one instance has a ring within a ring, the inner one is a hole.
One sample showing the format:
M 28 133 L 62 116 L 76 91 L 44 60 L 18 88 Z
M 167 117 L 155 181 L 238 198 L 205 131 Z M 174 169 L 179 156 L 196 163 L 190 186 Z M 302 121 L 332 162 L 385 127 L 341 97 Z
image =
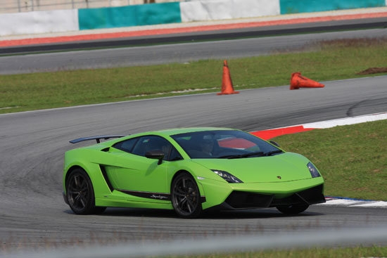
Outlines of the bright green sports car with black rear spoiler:
M 310 160 L 246 131 L 167 129 L 70 143 L 87 140 L 97 143 L 65 153 L 63 198 L 75 214 L 106 207 L 175 209 L 184 218 L 266 207 L 298 214 L 325 202 Z

